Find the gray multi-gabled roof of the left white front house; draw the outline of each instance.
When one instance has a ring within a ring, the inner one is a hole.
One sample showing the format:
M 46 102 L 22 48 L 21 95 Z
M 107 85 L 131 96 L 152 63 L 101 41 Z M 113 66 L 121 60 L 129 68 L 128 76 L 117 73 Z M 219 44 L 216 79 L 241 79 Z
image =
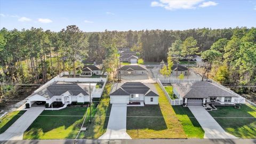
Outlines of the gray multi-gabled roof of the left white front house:
M 91 85 L 91 92 L 93 90 L 93 85 Z M 54 95 L 62 95 L 65 92 L 69 92 L 71 95 L 78 95 L 82 93 L 83 95 L 89 95 L 90 87 L 87 84 L 78 83 L 67 83 L 67 82 L 55 82 L 43 90 L 31 95 L 36 94 L 41 95 L 45 98 L 52 98 Z

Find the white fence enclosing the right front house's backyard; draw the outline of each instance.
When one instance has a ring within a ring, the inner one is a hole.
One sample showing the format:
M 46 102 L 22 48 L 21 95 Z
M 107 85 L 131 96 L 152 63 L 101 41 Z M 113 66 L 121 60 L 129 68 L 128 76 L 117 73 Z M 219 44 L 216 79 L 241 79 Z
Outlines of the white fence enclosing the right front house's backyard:
M 159 81 L 159 82 L 158 82 L 158 81 Z M 202 79 L 167 79 L 167 78 L 166 78 L 166 79 L 157 79 L 157 82 L 158 82 L 158 83 L 161 83 L 161 85 L 162 85 L 162 83 L 184 83 L 184 82 L 199 82 L 199 81 L 202 81 Z M 225 87 L 225 86 L 223 86 L 223 85 L 221 85 L 221 84 L 219 84 L 219 83 L 213 81 L 212 79 L 207 79 L 207 80 L 206 80 L 206 79 L 203 79 L 203 81 L 211 82 L 211 83 L 213 83 L 214 85 L 220 87 L 221 89 L 226 90 L 226 91 L 228 91 L 228 92 L 230 92 L 230 93 L 236 95 L 237 98 L 235 98 L 235 103 L 245 103 L 245 98 L 244 98 L 244 97 L 242 97 L 241 95 L 235 93 L 234 91 L 231 91 L 231 90 L 228 89 L 227 87 Z M 163 86 L 163 85 L 162 85 L 162 86 Z M 163 87 L 162 89 L 164 89 L 164 87 Z M 163 91 L 165 91 L 165 89 L 164 89 Z M 166 92 L 166 91 L 165 91 L 165 92 Z M 167 92 L 166 92 L 166 93 L 167 93 Z

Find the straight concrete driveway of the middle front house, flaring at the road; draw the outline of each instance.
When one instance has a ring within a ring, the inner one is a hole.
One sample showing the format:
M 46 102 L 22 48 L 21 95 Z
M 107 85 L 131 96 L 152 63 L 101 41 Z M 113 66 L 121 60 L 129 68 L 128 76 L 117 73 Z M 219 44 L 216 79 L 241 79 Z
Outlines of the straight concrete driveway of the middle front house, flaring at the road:
M 126 133 L 126 103 L 113 103 L 106 133 L 99 139 L 131 139 Z

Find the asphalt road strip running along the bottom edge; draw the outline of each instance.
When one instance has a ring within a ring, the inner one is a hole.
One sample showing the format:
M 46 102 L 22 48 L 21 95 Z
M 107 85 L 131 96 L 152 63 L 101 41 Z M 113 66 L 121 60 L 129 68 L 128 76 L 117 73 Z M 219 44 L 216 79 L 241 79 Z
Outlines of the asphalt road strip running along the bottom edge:
M 17 140 L 17 141 L 0 141 L 4 144 L 74 144 L 74 140 Z M 97 143 L 97 144 L 255 144 L 256 139 L 143 139 L 143 140 L 92 140 L 81 139 L 77 141 L 77 144 L 82 143 Z

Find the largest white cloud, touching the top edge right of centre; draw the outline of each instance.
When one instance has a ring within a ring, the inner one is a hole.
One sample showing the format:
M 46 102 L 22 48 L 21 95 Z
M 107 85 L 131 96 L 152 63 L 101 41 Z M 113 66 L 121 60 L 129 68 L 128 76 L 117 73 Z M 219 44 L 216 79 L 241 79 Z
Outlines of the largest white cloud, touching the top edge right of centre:
M 166 10 L 178 10 L 178 9 L 196 9 L 196 7 L 206 7 L 217 5 L 215 2 L 204 2 L 204 0 L 159 0 L 159 2 L 151 2 L 151 6 L 164 7 Z

